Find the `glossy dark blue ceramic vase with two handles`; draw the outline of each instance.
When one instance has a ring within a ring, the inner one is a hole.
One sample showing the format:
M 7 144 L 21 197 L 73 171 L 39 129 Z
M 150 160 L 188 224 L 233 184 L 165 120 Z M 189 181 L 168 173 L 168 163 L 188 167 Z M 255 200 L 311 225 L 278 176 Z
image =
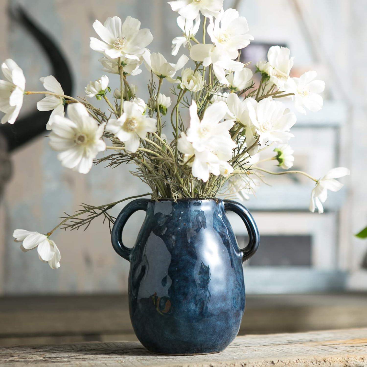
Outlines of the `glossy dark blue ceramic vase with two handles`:
M 122 230 L 138 210 L 146 217 L 135 246 L 127 248 Z M 226 211 L 246 225 L 246 248 L 239 248 Z M 204 354 L 232 342 L 245 308 L 242 263 L 259 246 L 257 226 L 244 206 L 218 199 L 137 199 L 123 208 L 111 237 L 117 254 L 130 262 L 130 318 L 146 349 Z

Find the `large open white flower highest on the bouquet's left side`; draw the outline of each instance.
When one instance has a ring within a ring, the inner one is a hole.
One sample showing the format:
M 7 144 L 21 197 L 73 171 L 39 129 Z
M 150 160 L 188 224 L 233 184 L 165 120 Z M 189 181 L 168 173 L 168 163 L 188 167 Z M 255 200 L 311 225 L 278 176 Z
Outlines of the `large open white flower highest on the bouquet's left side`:
M 123 24 L 119 17 L 108 17 L 103 25 L 96 20 L 93 28 L 102 41 L 91 37 L 91 49 L 112 59 L 123 56 L 139 60 L 146 50 L 145 47 L 153 41 L 149 29 L 140 29 L 138 19 L 131 17 L 126 17 Z

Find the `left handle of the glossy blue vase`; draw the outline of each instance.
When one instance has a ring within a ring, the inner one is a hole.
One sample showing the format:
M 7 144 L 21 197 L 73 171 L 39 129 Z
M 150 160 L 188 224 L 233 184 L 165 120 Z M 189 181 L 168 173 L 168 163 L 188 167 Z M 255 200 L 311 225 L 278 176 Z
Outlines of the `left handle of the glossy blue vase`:
M 126 247 L 122 243 L 122 230 L 132 214 L 138 210 L 146 211 L 148 201 L 148 199 L 136 199 L 134 201 L 130 201 L 130 203 L 121 210 L 119 216 L 116 218 L 115 224 L 113 225 L 111 232 L 112 246 L 117 254 L 127 261 L 130 261 L 131 248 Z

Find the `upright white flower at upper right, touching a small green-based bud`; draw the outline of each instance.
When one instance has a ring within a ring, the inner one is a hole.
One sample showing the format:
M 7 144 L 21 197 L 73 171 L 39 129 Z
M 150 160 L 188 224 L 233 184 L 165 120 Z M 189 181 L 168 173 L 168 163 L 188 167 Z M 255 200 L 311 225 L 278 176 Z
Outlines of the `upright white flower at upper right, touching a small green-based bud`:
M 289 78 L 294 57 L 290 57 L 287 47 L 272 46 L 268 51 L 269 68 L 267 70 L 272 81 L 277 87 L 283 88 Z

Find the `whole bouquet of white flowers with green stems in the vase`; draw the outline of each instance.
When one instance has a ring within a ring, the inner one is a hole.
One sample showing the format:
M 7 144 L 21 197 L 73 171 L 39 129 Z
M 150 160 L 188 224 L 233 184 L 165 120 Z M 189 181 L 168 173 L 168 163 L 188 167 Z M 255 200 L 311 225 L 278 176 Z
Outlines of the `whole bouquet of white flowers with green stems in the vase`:
M 248 65 L 239 61 L 239 50 L 253 39 L 246 18 L 235 9 L 224 11 L 223 0 L 169 4 L 179 14 L 181 29 L 181 35 L 172 41 L 172 55 L 187 51 L 188 56 L 181 55 L 172 63 L 150 52 L 147 47 L 153 36 L 149 29 L 140 29 L 138 19 L 112 17 L 103 24 L 96 20 L 93 28 L 99 38 L 91 37 L 90 47 L 102 54 L 103 72 L 117 75 L 119 87 L 112 91 L 112 77 L 103 75 L 88 84 L 86 98 L 73 98 L 50 75 L 40 79 L 44 91 L 27 91 L 21 68 L 7 59 L 1 65 L 7 79 L 0 80 L 0 110 L 5 112 L 1 123 L 15 123 L 24 95 L 44 94 L 37 108 L 52 110 L 46 126 L 48 139 L 63 167 L 86 174 L 93 162 L 108 167 L 134 163 L 132 174 L 151 190 L 141 196 L 174 200 L 207 199 L 224 193 L 247 197 L 264 174 L 301 174 L 316 183 L 310 210 L 315 211 L 316 206 L 323 212 L 327 190 L 339 190 L 342 184 L 335 178 L 349 171 L 334 168 L 323 178 L 288 171 L 294 161 L 288 141 L 296 116 L 282 101 L 292 100 L 300 113 L 317 111 L 323 105 L 324 82 L 316 79 L 314 71 L 290 77 L 293 57 L 288 48 L 279 46 L 270 47 L 268 60 L 256 64 L 260 81 L 255 82 Z M 199 29 L 203 32 L 200 41 L 196 38 Z M 149 72 L 147 101 L 139 98 L 133 84 L 143 63 Z M 171 83 L 169 97 L 161 94 L 163 83 Z M 93 98 L 104 99 L 106 110 L 93 106 Z M 188 114 L 183 113 L 186 108 Z M 171 124 L 171 134 L 165 128 L 167 135 L 163 134 L 166 122 Z M 265 149 L 274 151 L 266 160 L 277 161 L 284 171 L 260 167 L 264 159 L 259 155 Z M 99 152 L 108 150 L 111 154 L 97 158 Z M 18 229 L 14 237 L 22 242 L 23 250 L 38 246 L 40 259 L 56 269 L 60 252 L 50 236 L 57 228 L 88 226 L 99 216 L 111 224 L 114 218 L 109 210 L 128 199 L 101 206 L 83 204 L 45 235 Z

